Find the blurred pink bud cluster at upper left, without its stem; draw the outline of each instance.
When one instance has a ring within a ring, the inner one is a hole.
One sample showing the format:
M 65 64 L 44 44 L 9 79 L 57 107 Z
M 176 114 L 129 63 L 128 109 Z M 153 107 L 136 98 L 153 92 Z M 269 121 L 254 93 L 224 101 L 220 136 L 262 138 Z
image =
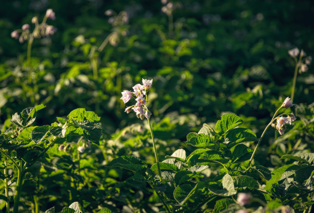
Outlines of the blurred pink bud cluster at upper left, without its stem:
M 41 24 L 38 24 L 38 18 L 36 16 L 32 18 L 32 23 L 35 25 L 35 28 L 32 33 L 30 32 L 29 24 L 24 24 L 22 26 L 22 29 L 14 30 L 11 33 L 11 37 L 18 39 L 20 43 L 23 43 L 24 41 L 30 40 L 31 37 L 40 38 L 42 36 L 53 35 L 56 29 L 52 25 L 46 24 L 48 18 L 51 20 L 55 20 L 55 13 L 53 12 L 52 9 L 48 9 L 46 11 L 46 15 Z

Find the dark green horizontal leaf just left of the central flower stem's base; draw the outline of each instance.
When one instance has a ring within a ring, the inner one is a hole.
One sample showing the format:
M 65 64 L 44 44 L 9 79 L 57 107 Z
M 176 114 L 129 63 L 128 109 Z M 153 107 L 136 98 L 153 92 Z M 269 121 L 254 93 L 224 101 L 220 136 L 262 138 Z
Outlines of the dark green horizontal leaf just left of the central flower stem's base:
M 113 159 L 108 166 L 122 167 L 131 171 L 139 171 L 146 168 L 144 162 L 136 156 L 121 156 Z

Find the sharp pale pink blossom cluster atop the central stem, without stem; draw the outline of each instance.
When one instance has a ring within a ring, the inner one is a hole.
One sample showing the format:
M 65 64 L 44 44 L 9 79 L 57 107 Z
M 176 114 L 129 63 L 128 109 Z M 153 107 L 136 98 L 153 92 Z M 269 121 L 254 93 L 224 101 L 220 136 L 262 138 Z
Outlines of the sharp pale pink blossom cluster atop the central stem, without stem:
M 147 108 L 147 91 L 151 88 L 152 80 L 142 79 L 142 83 L 143 85 L 136 84 L 133 86 L 133 92 L 128 90 L 121 92 L 121 99 L 124 103 L 127 103 L 131 100 L 131 98 L 134 98 L 136 104 L 127 107 L 125 111 L 129 113 L 131 110 L 133 110 L 138 118 L 144 119 L 146 117 L 149 119 L 151 112 Z

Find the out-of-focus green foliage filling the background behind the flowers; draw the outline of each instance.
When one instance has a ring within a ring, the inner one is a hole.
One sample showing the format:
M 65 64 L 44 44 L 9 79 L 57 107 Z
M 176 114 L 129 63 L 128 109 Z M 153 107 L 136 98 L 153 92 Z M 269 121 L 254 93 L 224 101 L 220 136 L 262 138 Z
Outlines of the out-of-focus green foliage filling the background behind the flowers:
M 160 1 L 3 1 L 0 7 L 0 123 L 4 124 L 3 128 L 14 112 L 37 104 L 47 106 L 38 112 L 37 125 L 53 123 L 56 116 L 63 117 L 83 107 L 100 115 L 113 137 L 104 140 L 101 149 L 90 147 L 97 158 L 91 160 L 86 154 L 86 161 L 93 161 L 86 165 L 100 169 L 102 161 L 123 154 L 141 156 L 152 164 L 146 123 L 132 113 L 126 114 L 120 100 L 121 91 L 131 90 L 144 78 L 153 79 L 148 99 L 160 156 L 178 148 L 191 152 L 181 143 L 186 134 L 198 131 L 203 123 L 213 124 L 227 112 L 239 115 L 243 125 L 259 137 L 276 107 L 291 93 L 294 61 L 287 51 L 298 47 L 307 55 L 314 55 L 314 2 L 185 0 L 173 3 L 173 11 L 166 14 Z M 20 44 L 10 33 L 23 24 L 31 25 L 33 16 L 41 19 L 48 8 L 55 12 L 56 18 L 49 20 L 49 24 L 57 31 L 50 37 L 34 40 L 33 74 L 29 83 L 27 43 Z M 108 9 L 114 11 L 113 16 L 104 14 Z M 101 50 L 104 41 L 106 45 Z M 281 139 L 286 141 L 285 148 L 272 145 L 264 146 L 265 150 L 280 155 L 286 149 L 291 150 L 300 138 L 308 142 L 302 148 L 313 148 L 312 126 L 308 126 L 313 122 L 312 70 L 309 66 L 308 72 L 297 79 L 293 102 L 299 109 L 299 114 L 296 113 L 299 123 L 287 130 L 291 130 L 292 141 Z M 298 128 L 308 128 L 309 133 L 300 134 Z M 275 135 L 273 139 L 273 132 L 265 135 L 270 144 L 280 138 Z M 60 155 L 57 147 L 49 154 L 55 153 Z M 280 164 L 277 158 L 265 158 L 260 153 L 257 161 L 276 166 Z M 65 158 L 64 161 L 74 160 Z M 56 162 L 51 160 L 51 166 Z M 62 180 L 58 178 L 61 170 L 52 175 L 49 169 L 42 172 L 44 179 Z M 45 172 L 50 175 L 45 176 Z M 104 172 L 106 176 L 107 172 Z M 102 175 L 97 177 L 87 172 L 85 177 L 92 177 L 89 182 L 97 183 L 103 178 L 102 170 L 99 173 Z M 127 173 L 115 169 L 109 178 L 121 179 Z M 110 180 L 106 184 L 111 184 Z M 106 184 L 97 188 L 97 196 Z M 68 184 L 60 182 L 59 187 L 65 185 Z M 54 189 L 36 190 L 50 193 Z M 143 190 L 148 193 L 147 189 Z M 81 197 L 80 193 L 76 196 Z M 125 195 L 123 199 L 114 197 L 112 202 L 132 198 L 128 193 Z M 53 199 L 46 196 L 42 198 L 47 203 L 54 199 L 62 202 L 62 196 Z M 137 196 L 140 200 L 143 195 Z M 84 199 L 85 206 L 92 202 L 90 198 Z M 90 205 L 96 206 L 99 200 L 93 202 Z

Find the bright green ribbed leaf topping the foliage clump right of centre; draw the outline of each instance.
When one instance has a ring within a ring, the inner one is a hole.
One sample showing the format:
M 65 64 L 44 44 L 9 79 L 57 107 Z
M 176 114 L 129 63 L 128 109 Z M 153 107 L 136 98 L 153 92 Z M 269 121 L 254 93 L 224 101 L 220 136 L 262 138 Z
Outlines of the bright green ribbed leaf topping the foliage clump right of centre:
M 239 116 L 234 114 L 224 114 L 221 117 L 221 120 L 217 121 L 215 129 L 217 129 L 218 132 L 226 132 L 240 124 L 242 124 L 242 120 Z

